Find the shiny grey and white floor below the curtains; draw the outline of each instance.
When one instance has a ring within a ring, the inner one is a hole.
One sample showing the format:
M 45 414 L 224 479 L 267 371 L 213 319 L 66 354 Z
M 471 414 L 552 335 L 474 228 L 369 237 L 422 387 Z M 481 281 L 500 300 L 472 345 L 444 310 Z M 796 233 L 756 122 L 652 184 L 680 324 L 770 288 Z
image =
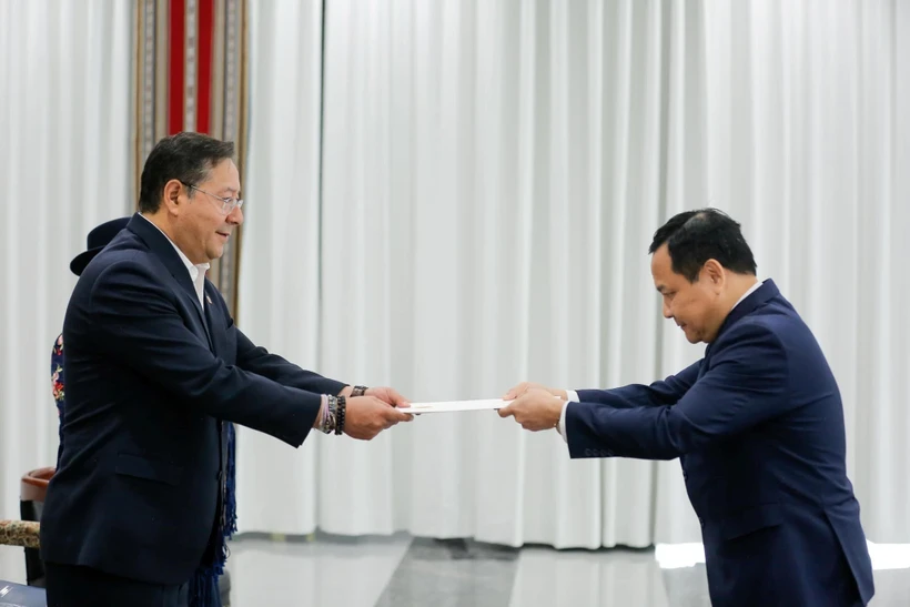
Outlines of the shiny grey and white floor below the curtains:
M 897 555 L 897 556 L 896 556 Z M 910 605 L 908 548 L 873 552 L 872 607 Z M 504 548 L 406 535 L 247 535 L 231 546 L 232 607 L 701 607 L 704 565 L 658 550 Z M 22 552 L 0 547 L 0 579 L 21 583 Z

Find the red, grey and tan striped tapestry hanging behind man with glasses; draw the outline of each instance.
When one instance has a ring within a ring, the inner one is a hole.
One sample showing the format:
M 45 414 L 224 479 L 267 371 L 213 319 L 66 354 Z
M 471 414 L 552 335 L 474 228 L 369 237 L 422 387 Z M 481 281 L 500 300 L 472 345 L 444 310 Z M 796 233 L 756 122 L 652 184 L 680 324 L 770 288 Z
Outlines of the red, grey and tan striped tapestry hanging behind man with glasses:
M 135 175 L 152 146 L 180 131 L 233 141 L 243 176 L 246 152 L 246 0 L 135 0 Z M 236 317 L 242 230 L 212 264 Z

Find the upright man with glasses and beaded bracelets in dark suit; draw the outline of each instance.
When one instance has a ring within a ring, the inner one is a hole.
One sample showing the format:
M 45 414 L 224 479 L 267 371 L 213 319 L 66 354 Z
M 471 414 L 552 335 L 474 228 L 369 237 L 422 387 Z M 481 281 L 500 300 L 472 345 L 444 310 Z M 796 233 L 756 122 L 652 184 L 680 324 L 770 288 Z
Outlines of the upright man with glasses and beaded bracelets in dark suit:
M 233 152 L 196 133 L 159 142 L 140 212 L 73 291 L 63 449 L 41 519 L 49 607 L 216 601 L 226 423 L 297 447 L 312 428 L 370 439 L 411 419 L 394 390 L 303 371 L 234 325 L 205 280 L 243 222 Z M 200 566 L 209 583 L 191 584 Z

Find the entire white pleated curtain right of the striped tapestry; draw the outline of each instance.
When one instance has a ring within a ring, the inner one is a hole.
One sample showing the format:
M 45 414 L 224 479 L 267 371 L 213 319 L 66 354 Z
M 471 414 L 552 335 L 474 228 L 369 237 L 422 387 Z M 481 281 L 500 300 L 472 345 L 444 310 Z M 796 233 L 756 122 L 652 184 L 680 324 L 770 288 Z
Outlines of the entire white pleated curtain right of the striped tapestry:
M 648 382 L 702 351 L 660 317 L 653 232 L 719 206 L 829 355 L 870 538 L 910 540 L 907 7 L 330 0 L 323 55 L 318 4 L 252 7 L 254 341 L 414 401 Z M 678 463 L 570 462 L 495 414 L 244 432 L 240 462 L 241 530 L 700 537 Z

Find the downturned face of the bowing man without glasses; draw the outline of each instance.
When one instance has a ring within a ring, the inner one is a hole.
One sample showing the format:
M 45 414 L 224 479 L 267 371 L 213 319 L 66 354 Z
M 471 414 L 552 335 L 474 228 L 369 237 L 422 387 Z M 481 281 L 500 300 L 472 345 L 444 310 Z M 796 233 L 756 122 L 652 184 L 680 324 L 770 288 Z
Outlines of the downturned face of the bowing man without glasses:
M 696 344 L 710 343 L 724 322 L 726 273 L 715 260 L 708 260 L 695 282 L 673 271 L 667 244 L 651 257 L 654 286 L 664 297 L 664 317 L 671 318 Z

